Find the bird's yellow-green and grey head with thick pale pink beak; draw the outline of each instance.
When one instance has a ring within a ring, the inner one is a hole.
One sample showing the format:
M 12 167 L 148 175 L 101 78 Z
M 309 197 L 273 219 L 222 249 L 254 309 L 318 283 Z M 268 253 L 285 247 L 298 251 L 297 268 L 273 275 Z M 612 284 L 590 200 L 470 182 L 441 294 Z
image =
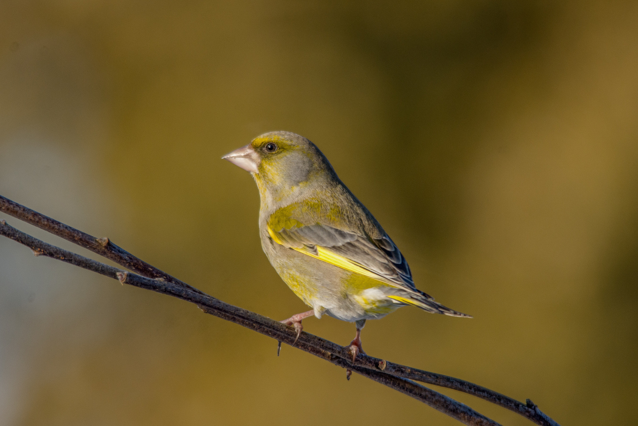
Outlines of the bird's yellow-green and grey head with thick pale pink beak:
M 251 172 L 260 191 L 287 191 L 334 174 L 313 142 L 290 132 L 264 133 L 221 158 Z

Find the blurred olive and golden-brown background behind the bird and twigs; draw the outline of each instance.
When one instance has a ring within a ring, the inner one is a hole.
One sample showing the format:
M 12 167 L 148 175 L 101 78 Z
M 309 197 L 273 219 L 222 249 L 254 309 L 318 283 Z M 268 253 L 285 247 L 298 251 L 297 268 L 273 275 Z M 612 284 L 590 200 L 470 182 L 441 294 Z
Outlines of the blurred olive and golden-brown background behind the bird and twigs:
M 604 0 L 3 1 L 0 194 L 283 319 L 305 307 L 262 253 L 255 184 L 219 157 L 300 133 L 420 289 L 475 316 L 404 308 L 369 321 L 367 353 L 562 425 L 635 424 L 637 22 Z M 3 425 L 458 424 L 6 239 L 0 324 Z

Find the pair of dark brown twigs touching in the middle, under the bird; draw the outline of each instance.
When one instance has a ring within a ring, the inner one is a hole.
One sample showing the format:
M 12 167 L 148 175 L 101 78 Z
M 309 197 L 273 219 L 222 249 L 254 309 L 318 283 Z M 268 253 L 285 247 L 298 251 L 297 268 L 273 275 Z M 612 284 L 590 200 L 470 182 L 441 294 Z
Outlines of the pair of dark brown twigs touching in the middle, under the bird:
M 82 247 L 89 248 L 89 250 L 92 250 L 96 254 L 103 255 L 122 266 L 126 266 L 131 270 L 139 272 L 141 275 L 146 275 L 148 278 L 158 278 L 158 280 L 147 280 L 139 275 L 126 273 L 124 271 L 117 270 L 117 268 L 112 268 L 111 266 L 93 261 L 92 259 L 48 245 L 43 241 L 37 240 L 36 238 L 28 236 L 27 234 L 4 224 L 4 221 L 2 221 L 2 224 L 0 224 L 0 234 L 8 236 L 12 240 L 19 241 L 20 243 L 31 247 L 36 255 L 43 254 L 48 257 L 53 257 L 54 259 L 70 262 L 82 268 L 102 273 L 103 275 L 107 275 L 111 278 L 119 279 L 119 277 L 124 277 L 122 282 L 126 282 L 126 284 L 136 285 L 137 287 L 151 289 L 158 291 L 159 293 L 170 294 L 172 296 L 182 298 L 183 300 L 191 301 L 192 303 L 196 303 L 200 306 L 204 312 L 214 316 L 241 324 L 242 326 L 258 331 L 264 335 L 268 335 L 269 337 L 273 337 L 274 339 L 285 342 L 286 344 L 292 344 L 294 342 L 296 335 L 293 331 L 291 331 L 292 328 L 287 328 L 277 321 L 273 321 L 267 317 L 260 316 L 253 312 L 219 301 L 216 298 L 212 298 L 188 284 L 177 280 L 177 278 L 171 277 L 167 273 L 147 264 L 125 250 L 122 250 L 122 248 L 117 247 L 117 245 L 110 243 L 107 238 L 94 238 L 89 234 L 85 234 L 82 231 L 78 231 L 68 225 L 64 225 L 61 222 L 57 222 L 52 218 L 41 215 L 36 211 L 10 201 L 1 195 L 0 211 L 4 211 L 13 217 L 17 217 L 30 224 L 36 225 L 45 231 L 52 232 L 53 234 L 61 236 L 73 243 L 77 243 Z M 105 241 L 105 243 L 102 243 L 101 241 Z M 198 297 L 204 297 L 205 300 L 200 300 Z M 352 364 L 350 361 L 350 354 L 347 349 L 306 332 L 302 333 L 296 346 L 336 365 L 352 369 L 363 376 L 383 383 L 390 388 L 399 390 L 399 392 L 406 393 L 407 395 L 421 400 L 429 406 L 432 406 L 435 409 L 438 409 L 439 411 L 466 424 L 496 425 L 498 423 L 494 423 L 492 420 L 487 419 L 476 411 L 473 411 L 471 408 L 464 406 L 464 404 L 460 404 L 459 402 L 449 399 L 445 395 L 441 395 L 438 392 L 434 392 L 424 386 L 420 386 L 419 384 L 412 382 L 410 379 L 429 384 L 436 384 L 437 386 L 443 386 L 445 388 L 475 395 L 489 402 L 493 402 L 496 405 L 510 409 L 538 425 L 559 426 L 558 423 L 554 422 L 554 420 L 542 413 L 542 411 L 538 409 L 538 406 L 533 404 L 533 402 L 529 399 L 526 401 L 527 404 L 523 404 L 522 402 L 511 399 L 501 393 L 494 392 L 477 384 L 456 379 L 454 377 L 444 376 L 442 374 L 412 369 L 411 367 L 380 360 L 364 354 L 359 354 L 355 363 Z M 401 379 L 398 379 L 399 377 L 401 377 Z M 457 404 L 457 406 L 454 404 Z M 470 413 L 470 420 L 468 420 L 467 417 L 468 413 Z M 472 418 L 471 416 L 474 417 Z M 467 423 L 470 421 L 473 423 Z

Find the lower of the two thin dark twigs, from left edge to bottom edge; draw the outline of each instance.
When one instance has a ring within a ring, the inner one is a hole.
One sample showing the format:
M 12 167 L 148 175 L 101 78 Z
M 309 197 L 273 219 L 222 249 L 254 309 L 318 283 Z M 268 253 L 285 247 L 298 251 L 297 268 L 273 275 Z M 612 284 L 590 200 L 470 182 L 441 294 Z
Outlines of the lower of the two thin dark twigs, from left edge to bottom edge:
M 216 317 L 240 324 L 246 328 L 258 331 L 263 335 L 267 335 L 289 345 L 292 345 L 295 342 L 296 332 L 292 327 L 285 326 L 278 321 L 255 314 L 255 312 L 235 307 L 207 294 L 196 293 L 191 289 L 175 285 L 171 282 L 155 280 L 152 278 L 142 277 L 134 273 L 128 273 L 118 268 L 114 268 L 113 266 L 108 266 L 107 264 L 94 261 L 88 257 L 69 252 L 68 250 L 63 250 L 62 248 L 45 243 L 44 241 L 38 240 L 33 236 L 11 227 L 6 224 L 4 220 L 0 221 L 0 234 L 31 248 L 35 255 L 43 255 L 68 262 L 75 266 L 80 266 L 80 268 L 94 271 L 110 278 L 115 278 L 122 284 L 134 285 L 135 287 L 168 294 L 170 296 L 195 303 L 195 305 L 207 314 L 212 314 Z M 329 340 L 321 339 L 320 337 L 304 332 L 299 337 L 299 340 L 297 340 L 295 346 L 299 347 L 302 351 L 318 356 L 319 358 L 323 358 L 334 365 L 351 369 L 362 376 L 369 377 L 378 383 L 385 384 L 385 386 L 389 386 L 394 390 L 420 400 L 434 409 L 441 411 L 441 413 L 455 418 L 466 425 L 500 426 L 499 423 L 481 415 L 465 404 L 461 404 L 461 402 L 457 402 L 442 393 L 426 388 L 412 380 L 392 376 L 378 369 L 367 369 L 366 367 L 361 367 L 359 365 L 352 365 L 352 363 L 348 361 L 348 350 L 343 346 L 330 342 Z

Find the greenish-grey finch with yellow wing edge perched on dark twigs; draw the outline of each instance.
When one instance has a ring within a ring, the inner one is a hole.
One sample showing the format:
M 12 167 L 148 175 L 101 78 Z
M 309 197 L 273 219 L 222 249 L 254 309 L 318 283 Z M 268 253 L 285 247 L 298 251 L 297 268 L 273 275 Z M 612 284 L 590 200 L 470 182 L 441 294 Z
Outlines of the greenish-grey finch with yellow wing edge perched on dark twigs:
M 313 142 L 292 132 L 263 133 L 222 158 L 255 179 L 263 252 L 312 308 L 281 321 L 295 329 L 297 339 L 307 317 L 325 314 L 355 323 L 348 346 L 354 363 L 364 354 L 361 330 L 368 319 L 404 306 L 471 318 L 417 289 L 397 245 Z M 278 354 L 280 349 L 281 342 Z

